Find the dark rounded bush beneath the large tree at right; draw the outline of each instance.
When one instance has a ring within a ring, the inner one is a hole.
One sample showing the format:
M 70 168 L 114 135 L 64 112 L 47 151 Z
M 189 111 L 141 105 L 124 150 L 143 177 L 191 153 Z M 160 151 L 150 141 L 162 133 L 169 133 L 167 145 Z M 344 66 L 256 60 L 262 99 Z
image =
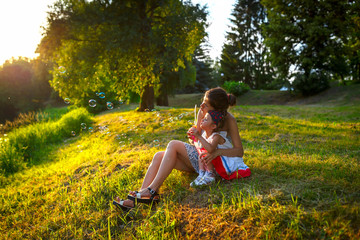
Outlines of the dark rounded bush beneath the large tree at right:
M 322 71 L 313 71 L 309 75 L 298 73 L 292 83 L 294 91 L 310 96 L 330 87 L 328 76 Z

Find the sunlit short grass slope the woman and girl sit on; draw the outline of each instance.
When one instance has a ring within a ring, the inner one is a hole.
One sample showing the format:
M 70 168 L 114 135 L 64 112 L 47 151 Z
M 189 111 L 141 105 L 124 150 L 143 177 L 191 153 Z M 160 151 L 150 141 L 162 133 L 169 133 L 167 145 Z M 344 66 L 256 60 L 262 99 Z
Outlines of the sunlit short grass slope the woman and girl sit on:
M 152 156 L 187 141 L 193 121 L 192 108 L 134 108 L 95 116 L 94 132 L 3 177 L 0 238 L 360 238 L 359 106 L 235 107 L 250 178 L 192 189 L 196 175 L 173 171 L 157 206 L 123 213 L 112 199 L 138 189 Z

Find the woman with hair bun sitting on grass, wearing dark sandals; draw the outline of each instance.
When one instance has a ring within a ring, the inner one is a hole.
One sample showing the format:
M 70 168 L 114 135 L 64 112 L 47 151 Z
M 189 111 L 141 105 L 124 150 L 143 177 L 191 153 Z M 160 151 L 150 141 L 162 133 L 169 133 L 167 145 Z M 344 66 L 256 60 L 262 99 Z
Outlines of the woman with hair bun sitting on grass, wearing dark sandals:
M 242 157 L 244 154 L 236 119 L 227 112 L 229 106 L 233 106 L 235 103 L 236 97 L 232 94 L 227 94 L 220 87 L 210 89 L 204 95 L 198 112 L 197 128 L 200 129 L 200 122 L 209 110 L 224 112 L 225 120 L 221 131 L 228 133 L 227 137 L 233 144 L 231 149 L 216 149 L 212 153 L 206 153 L 203 157 L 206 163 L 211 162 L 218 156 Z M 188 135 L 190 135 L 189 132 Z M 159 190 L 171 171 L 177 169 L 180 171 L 198 172 L 198 158 L 199 155 L 195 146 L 178 140 L 170 141 L 165 151 L 157 152 L 154 155 L 140 191 L 130 191 L 129 199 L 127 200 L 120 200 L 119 197 L 116 197 L 113 204 L 123 210 L 129 210 L 135 206 L 135 200 L 143 203 L 158 201 L 156 191 Z

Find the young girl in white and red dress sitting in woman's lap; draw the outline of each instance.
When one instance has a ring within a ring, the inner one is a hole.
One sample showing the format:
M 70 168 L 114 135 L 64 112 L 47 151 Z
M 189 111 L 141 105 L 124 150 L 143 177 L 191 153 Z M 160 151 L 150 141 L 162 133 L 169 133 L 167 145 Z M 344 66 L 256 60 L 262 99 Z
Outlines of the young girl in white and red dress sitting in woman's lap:
M 200 128 L 203 130 L 203 133 L 197 131 L 196 128 L 191 128 L 190 133 L 192 133 L 197 142 L 195 146 L 200 148 L 201 152 L 208 153 L 213 152 L 215 149 L 230 149 L 232 148 L 231 142 L 226 138 L 226 131 L 219 131 L 223 125 L 224 115 L 222 112 L 209 110 L 205 117 L 200 123 Z M 199 145 L 200 142 L 200 146 Z M 215 181 L 215 171 L 223 177 L 224 179 L 238 178 L 240 176 L 247 176 L 250 174 L 250 169 L 244 163 L 241 157 L 226 157 L 219 156 L 213 160 L 213 163 L 208 163 L 207 165 L 203 164 L 203 160 L 199 157 L 199 176 L 190 184 L 190 186 L 202 186 L 208 185 Z M 206 167 L 208 170 L 206 170 Z

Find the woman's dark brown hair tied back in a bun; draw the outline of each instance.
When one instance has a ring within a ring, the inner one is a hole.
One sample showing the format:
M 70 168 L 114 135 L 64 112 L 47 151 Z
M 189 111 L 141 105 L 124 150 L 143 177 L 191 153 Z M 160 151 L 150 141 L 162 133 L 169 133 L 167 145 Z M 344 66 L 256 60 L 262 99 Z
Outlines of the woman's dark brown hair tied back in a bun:
M 216 111 L 223 112 L 226 115 L 230 106 L 235 106 L 236 97 L 233 94 L 228 94 L 223 88 L 212 88 L 205 92 L 204 98 L 209 100 L 210 105 Z

